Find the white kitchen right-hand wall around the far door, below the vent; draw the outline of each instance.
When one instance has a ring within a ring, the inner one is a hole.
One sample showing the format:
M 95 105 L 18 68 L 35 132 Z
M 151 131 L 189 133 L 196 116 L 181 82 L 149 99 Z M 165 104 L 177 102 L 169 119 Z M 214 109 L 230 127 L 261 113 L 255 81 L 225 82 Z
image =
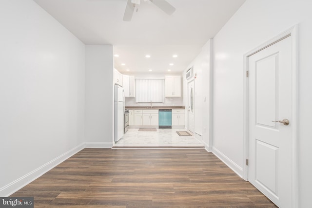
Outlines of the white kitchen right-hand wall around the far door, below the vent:
M 210 112 L 212 105 L 212 48 L 213 48 L 213 40 L 210 39 L 208 42 L 202 47 L 202 51 L 198 54 L 198 56 L 192 61 L 192 63 L 188 66 L 188 68 L 184 71 L 183 75 L 185 75 L 186 71 L 193 66 L 195 77 L 194 89 L 195 89 L 195 117 L 194 117 L 194 128 L 195 128 L 195 136 L 196 138 L 202 140 L 206 148 L 211 151 L 212 150 L 212 112 Z M 184 77 L 185 87 L 184 87 L 184 104 L 187 106 L 188 103 L 188 81 Z M 187 111 L 186 111 L 187 113 Z M 186 115 L 187 120 L 187 115 Z M 187 122 L 186 122 L 187 123 Z M 187 125 L 186 125 L 187 127 Z M 199 136 L 201 135 L 201 136 Z

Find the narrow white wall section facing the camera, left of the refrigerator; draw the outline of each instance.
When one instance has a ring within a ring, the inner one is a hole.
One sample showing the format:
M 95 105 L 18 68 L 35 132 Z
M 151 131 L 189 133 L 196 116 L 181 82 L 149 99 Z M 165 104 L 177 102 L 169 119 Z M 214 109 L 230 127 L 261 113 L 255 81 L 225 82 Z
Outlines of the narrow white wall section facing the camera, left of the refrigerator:
M 86 147 L 113 146 L 113 46 L 86 45 Z

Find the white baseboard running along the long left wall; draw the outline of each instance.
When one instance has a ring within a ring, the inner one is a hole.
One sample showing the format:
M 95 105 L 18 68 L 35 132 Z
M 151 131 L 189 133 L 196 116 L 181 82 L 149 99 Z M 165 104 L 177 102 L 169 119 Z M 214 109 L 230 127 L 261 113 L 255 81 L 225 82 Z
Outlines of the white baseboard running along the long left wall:
M 0 196 L 10 196 L 14 192 L 18 191 L 19 189 L 23 188 L 27 184 L 31 183 L 32 181 L 39 178 L 41 175 L 46 173 L 47 171 L 53 169 L 69 157 L 76 154 L 78 151 L 84 149 L 84 144 L 78 145 L 77 147 L 65 152 L 64 154 L 58 156 L 57 158 L 47 162 L 46 164 L 42 165 L 41 167 L 33 170 L 26 175 L 20 177 L 19 179 L 13 181 L 12 183 L 6 185 L 5 187 L 0 188 Z

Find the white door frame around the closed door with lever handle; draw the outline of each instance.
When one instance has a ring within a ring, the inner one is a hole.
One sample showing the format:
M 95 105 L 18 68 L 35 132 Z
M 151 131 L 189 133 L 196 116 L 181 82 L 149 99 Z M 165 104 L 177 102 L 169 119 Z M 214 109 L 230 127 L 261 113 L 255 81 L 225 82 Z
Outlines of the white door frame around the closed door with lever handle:
M 297 131 L 297 112 L 298 112 L 298 26 L 295 25 L 278 36 L 266 41 L 260 46 L 254 48 L 248 53 L 244 54 L 244 70 L 243 70 L 243 84 L 244 84 L 244 105 L 243 105 L 243 179 L 248 181 L 248 152 L 249 152 L 249 82 L 247 77 L 248 71 L 248 57 L 255 53 L 273 45 L 274 43 L 288 37 L 292 37 L 292 125 L 291 125 L 291 194 L 292 194 L 292 208 L 299 207 L 298 194 L 298 131 Z

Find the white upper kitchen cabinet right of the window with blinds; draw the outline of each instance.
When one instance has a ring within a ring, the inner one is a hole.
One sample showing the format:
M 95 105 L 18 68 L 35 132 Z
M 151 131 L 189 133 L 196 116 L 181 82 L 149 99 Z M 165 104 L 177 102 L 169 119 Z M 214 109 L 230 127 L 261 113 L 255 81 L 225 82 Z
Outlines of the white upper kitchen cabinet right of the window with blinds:
M 181 76 L 165 76 L 165 96 L 181 96 Z

